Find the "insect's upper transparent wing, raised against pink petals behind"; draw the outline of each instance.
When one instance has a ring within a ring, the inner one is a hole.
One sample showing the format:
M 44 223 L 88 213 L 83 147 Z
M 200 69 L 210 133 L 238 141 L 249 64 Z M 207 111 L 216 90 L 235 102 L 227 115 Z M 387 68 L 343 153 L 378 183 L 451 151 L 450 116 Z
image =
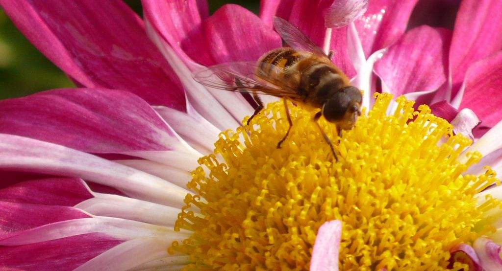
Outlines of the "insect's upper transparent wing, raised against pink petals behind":
M 281 35 L 281 38 L 289 45 L 291 48 L 299 51 L 312 52 L 321 56 L 326 56 L 321 48 L 312 42 L 309 37 L 305 36 L 298 28 L 290 24 L 288 21 L 276 17 L 274 19 L 274 28 L 277 33 Z

